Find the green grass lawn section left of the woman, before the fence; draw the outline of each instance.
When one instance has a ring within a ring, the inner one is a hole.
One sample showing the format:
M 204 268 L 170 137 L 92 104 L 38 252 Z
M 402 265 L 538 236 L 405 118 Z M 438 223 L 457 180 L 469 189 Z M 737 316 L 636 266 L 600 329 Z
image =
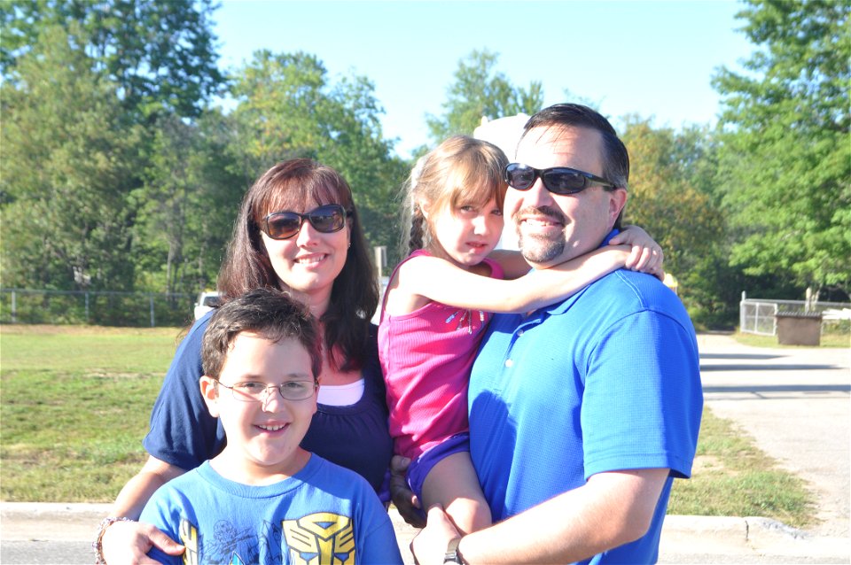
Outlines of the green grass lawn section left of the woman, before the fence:
M 141 440 L 179 333 L 0 329 L 0 496 L 113 499 L 144 461 Z

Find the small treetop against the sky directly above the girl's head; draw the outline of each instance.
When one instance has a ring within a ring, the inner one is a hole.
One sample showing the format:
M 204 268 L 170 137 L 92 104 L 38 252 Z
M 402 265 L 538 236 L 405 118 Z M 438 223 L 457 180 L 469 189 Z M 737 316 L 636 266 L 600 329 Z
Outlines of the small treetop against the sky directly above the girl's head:
M 449 135 L 472 135 L 482 117 L 490 120 L 513 116 L 520 112 L 532 114 L 543 105 L 540 81 L 528 89 L 511 84 L 503 73 L 496 71 L 498 55 L 488 50 L 473 50 L 458 62 L 455 81 L 449 86 L 441 116 L 426 116 L 426 124 L 435 143 Z

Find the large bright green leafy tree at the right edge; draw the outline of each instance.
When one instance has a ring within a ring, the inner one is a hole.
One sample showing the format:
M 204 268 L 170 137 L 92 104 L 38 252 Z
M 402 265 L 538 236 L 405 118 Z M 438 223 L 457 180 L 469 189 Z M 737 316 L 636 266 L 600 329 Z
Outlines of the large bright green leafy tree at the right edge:
M 730 261 L 747 275 L 851 290 L 851 4 L 747 0 L 759 47 L 746 73 L 714 77 L 723 96 L 716 176 Z

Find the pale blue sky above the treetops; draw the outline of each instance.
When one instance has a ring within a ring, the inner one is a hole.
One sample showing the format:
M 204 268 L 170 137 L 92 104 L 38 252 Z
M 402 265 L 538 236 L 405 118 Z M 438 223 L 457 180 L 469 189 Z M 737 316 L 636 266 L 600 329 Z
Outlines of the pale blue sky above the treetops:
M 548 2 L 284 2 L 224 0 L 215 12 L 220 64 L 254 50 L 303 50 L 332 81 L 365 75 L 385 108 L 397 152 L 429 143 L 426 113 L 439 115 L 458 61 L 498 54 L 516 86 L 542 81 L 544 104 L 582 97 L 613 119 L 636 113 L 656 126 L 714 124 L 711 79 L 740 70 L 755 47 L 730 0 Z

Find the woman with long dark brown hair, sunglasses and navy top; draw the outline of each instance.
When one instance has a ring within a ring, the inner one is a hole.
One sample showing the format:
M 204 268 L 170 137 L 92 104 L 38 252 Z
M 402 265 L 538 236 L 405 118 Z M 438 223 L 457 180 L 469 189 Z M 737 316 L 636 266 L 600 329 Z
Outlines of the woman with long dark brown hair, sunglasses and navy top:
M 323 367 L 318 409 L 301 445 L 384 494 L 392 445 L 370 322 L 379 302 L 370 257 L 347 182 L 329 166 L 291 159 L 246 192 L 218 289 L 225 301 L 256 288 L 286 290 L 308 306 L 324 337 Z M 180 344 L 144 438 L 148 460 L 101 524 L 96 549 L 105 561 L 144 560 L 152 545 L 179 552 L 159 530 L 133 521 L 161 484 L 223 448 L 223 430 L 199 391 L 200 341 L 210 315 Z

